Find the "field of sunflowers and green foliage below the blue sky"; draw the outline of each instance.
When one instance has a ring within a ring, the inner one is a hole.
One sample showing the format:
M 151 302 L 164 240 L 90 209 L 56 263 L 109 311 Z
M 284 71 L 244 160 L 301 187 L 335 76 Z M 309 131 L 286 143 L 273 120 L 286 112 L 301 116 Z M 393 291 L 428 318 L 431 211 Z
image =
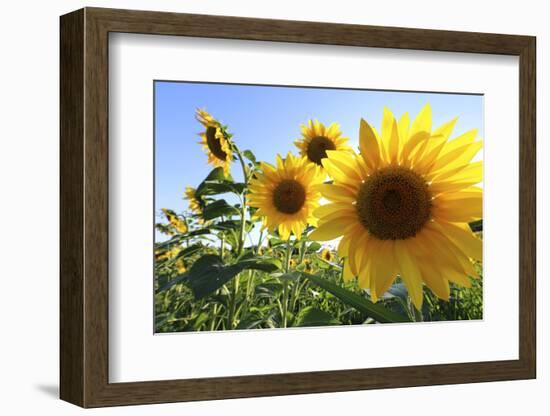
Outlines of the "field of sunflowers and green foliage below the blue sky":
M 211 171 L 182 184 L 187 210 L 160 210 L 156 332 L 482 319 L 475 129 L 384 109 L 380 131 L 358 120 L 357 149 L 310 120 L 259 161 L 206 110 L 196 120 Z

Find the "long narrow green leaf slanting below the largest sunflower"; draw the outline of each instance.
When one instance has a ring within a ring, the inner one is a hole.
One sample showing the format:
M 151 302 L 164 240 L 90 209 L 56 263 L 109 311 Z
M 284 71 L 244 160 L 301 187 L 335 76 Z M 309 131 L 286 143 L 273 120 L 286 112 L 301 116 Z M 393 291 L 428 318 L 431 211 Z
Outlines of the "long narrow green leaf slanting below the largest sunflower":
M 322 277 L 309 273 L 302 273 L 302 276 L 308 279 L 311 283 L 319 286 L 322 289 L 325 289 L 327 292 L 330 292 L 346 305 L 352 306 L 358 311 L 376 319 L 378 322 L 410 322 L 408 317 L 392 312 L 380 304 L 372 303 L 370 300 L 364 298 L 363 296 L 350 292 L 349 290 L 344 289 L 332 282 L 329 282 Z

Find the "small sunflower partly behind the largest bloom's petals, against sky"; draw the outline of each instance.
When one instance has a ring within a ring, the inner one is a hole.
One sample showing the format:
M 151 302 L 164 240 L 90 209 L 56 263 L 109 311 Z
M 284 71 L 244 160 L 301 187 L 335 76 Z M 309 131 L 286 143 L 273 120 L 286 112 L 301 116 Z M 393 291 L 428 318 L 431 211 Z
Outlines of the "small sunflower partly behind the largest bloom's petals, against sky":
M 348 138 L 342 137 L 340 126 L 332 123 L 325 127 L 317 120 L 309 120 L 308 124 L 302 124 L 302 137 L 296 139 L 294 144 L 300 149 L 300 154 L 309 161 L 321 166 L 321 160 L 327 157 L 328 150 L 351 151 L 347 145 Z

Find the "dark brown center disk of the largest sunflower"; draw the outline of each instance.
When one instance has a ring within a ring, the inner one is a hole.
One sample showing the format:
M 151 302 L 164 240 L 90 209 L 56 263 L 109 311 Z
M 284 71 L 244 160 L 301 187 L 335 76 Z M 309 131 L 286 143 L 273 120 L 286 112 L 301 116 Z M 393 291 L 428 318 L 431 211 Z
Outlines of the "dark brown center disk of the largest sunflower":
M 388 167 L 371 174 L 357 196 L 359 221 L 380 240 L 414 237 L 430 219 L 432 195 L 410 169 Z

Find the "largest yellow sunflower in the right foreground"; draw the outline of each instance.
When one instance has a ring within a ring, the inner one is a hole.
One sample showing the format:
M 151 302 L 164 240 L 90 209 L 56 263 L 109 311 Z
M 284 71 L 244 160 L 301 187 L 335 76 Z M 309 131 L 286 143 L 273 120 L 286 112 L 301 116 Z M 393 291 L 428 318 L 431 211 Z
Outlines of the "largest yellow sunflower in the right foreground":
M 482 162 L 472 162 L 482 142 L 477 130 L 449 140 L 455 123 L 432 132 L 429 106 L 412 125 L 385 109 L 381 136 L 361 120 L 360 155 L 328 151 L 323 160 L 334 182 L 320 187 L 330 203 L 315 211 L 310 238 L 343 236 L 344 279 L 357 277 L 375 301 L 397 275 L 417 309 L 423 284 L 448 299 L 449 282 L 469 287 L 477 277 L 482 242 L 468 223 L 482 216 Z

